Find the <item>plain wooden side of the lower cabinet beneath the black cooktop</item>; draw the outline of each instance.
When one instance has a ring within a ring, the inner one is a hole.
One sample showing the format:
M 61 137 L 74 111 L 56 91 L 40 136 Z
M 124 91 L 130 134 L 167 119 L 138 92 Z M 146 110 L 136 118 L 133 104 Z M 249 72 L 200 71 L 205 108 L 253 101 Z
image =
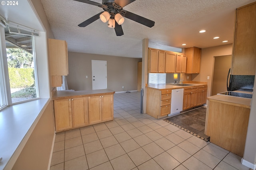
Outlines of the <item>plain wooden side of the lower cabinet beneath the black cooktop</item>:
M 210 142 L 243 157 L 250 108 L 214 99 L 207 106 L 205 134 Z

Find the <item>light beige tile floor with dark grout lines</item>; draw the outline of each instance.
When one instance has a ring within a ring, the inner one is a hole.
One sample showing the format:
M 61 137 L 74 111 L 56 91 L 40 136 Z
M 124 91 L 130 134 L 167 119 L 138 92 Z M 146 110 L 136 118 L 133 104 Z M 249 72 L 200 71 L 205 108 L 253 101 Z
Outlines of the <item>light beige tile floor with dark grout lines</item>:
M 140 92 L 114 94 L 114 121 L 56 134 L 50 170 L 249 170 L 241 157 L 140 114 Z

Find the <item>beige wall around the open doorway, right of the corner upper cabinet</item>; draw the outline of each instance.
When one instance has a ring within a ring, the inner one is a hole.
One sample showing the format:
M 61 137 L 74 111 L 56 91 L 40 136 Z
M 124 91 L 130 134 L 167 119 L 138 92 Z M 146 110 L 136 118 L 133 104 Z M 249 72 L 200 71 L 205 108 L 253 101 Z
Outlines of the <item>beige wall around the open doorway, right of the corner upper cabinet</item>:
M 212 88 L 212 75 L 214 67 L 214 56 L 232 55 L 232 44 L 221 45 L 202 49 L 200 74 L 191 74 L 192 81 L 207 82 L 207 96 L 210 96 Z M 231 63 L 230 63 L 231 66 Z M 207 80 L 207 76 L 210 79 Z

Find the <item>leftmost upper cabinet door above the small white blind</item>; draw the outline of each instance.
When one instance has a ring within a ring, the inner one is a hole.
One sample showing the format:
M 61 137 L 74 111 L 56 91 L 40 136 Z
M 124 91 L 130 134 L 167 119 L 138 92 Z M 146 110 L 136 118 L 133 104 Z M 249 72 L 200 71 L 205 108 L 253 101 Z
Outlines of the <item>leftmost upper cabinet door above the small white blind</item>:
M 157 73 L 158 72 L 158 50 L 149 49 L 148 56 L 148 72 Z

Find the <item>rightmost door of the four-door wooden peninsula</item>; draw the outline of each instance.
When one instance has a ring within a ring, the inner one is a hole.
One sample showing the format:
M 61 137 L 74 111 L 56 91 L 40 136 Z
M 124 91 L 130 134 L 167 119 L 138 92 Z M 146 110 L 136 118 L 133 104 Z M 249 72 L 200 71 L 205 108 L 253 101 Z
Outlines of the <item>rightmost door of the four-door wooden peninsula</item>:
M 113 95 L 104 95 L 101 97 L 102 121 L 114 119 Z

